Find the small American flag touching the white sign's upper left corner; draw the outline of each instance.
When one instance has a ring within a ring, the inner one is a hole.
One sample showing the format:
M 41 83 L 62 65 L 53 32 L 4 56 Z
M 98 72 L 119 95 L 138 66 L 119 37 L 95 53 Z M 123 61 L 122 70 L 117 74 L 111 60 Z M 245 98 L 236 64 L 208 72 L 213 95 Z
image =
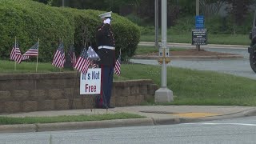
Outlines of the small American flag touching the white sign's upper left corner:
M 78 58 L 78 62 L 76 62 L 74 68 L 81 71 L 83 74 L 86 74 L 88 68 L 90 66 L 90 59 L 87 55 L 86 47 L 82 50 L 82 54 Z

